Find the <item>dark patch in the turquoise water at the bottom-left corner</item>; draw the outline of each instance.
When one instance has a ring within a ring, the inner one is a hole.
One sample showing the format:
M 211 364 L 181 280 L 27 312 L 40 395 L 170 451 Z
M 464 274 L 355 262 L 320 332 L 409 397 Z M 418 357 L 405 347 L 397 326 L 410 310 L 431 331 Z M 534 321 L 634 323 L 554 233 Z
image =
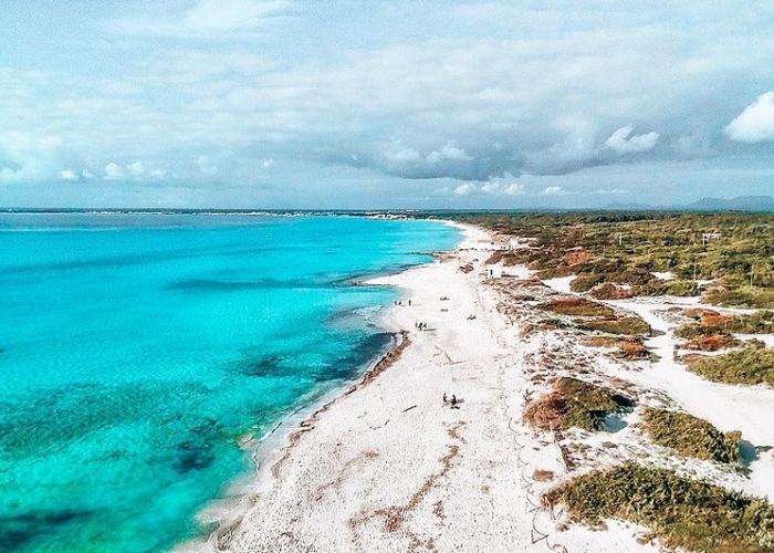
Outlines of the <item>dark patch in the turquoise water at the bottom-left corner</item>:
M 0 517 L 0 553 L 19 551 L 41 535 L 51 534 L 62 526 L 93 517 L 94 511 L 30 511 Z

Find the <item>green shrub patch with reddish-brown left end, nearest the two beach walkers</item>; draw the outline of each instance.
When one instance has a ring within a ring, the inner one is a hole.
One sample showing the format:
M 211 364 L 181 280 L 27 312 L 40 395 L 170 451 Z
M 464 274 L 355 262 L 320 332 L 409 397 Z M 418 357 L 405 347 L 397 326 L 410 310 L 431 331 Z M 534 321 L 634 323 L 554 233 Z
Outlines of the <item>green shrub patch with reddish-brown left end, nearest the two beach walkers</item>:
M 533 428 L 562 430 L 571 427 L 598 431 L 607 415 L 630 409 L 634 401 L 615 390 L 576 378 L 563 377 L 554 392 L 532 401 L 524 419 Z

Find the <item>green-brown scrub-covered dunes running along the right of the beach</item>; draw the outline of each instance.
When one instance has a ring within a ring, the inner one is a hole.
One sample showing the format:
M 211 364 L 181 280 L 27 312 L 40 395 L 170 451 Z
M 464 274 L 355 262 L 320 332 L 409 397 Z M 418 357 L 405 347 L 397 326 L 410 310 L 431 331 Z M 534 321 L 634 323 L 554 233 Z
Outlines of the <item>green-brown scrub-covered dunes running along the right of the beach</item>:
M 523 419 L 537 432 L 561 437 L 568 473 L 545 489 L 544 503 L 562 503 L 571 521 L 597 528 L 608 520 L 645 525 L 647 539 L 669 549 L 774 551 L 770 499 L 740 492 L 753 489 L 744 484 L 729 484 L 750 473 L 750 451 L 743 459 L 742 450 L 751 445 L 742 432 L 721 431 L 702 417 L 729 425 L 711 414 L 687 411 L 663 390 L 635 385 L 632 394 L 631 382 L 621 387 L 621 378 L 640 380 L 627 372 L 658 358 L 667 359 L 663 371 L 774 387 L 774 351 L 757 340 L 774 333 L 774 311 L 768 311 L 774 310 L 774 215 L 490 212 L 452 218 L 492 232 L 488 265 L 501 265 L 504 275 L 509 267 L 530 270 L 514 269 L 512 274 L 527 278 L 521 284 L 504 279 L 500 286 L 513 298 L 534 300 L 534 312 L 522 315 L 529 330 L 523 336 L 546 336 L 532 380 L 543 393 L 526 403 Z M 567 280 L 559 282 L 567 278 L 569 291 Z M 669 296 L 683 298 L 682 303 L 669 307 Z M 695 302 L 704 305 L 692 306 Z M 645 304 L 663 304 L 656 307 L 656 322 L 653 307 L 644 310 Z M 513 317 L 508 305 L 501 311 Z M 565 349 L 554 349 L 554 341 Z M 575 343 L 598 349 L 579 361 L 577 351 L 567 349 Z M 669 348 L 657 356 L 651 343 Z M 609 361 L 597 366 L 594 356 L 600 354 L 621 369 L 610 373 Z M 608 427 L 610 419 L 619 424 Z M 767 447 L 753 447 L 753 458 Z

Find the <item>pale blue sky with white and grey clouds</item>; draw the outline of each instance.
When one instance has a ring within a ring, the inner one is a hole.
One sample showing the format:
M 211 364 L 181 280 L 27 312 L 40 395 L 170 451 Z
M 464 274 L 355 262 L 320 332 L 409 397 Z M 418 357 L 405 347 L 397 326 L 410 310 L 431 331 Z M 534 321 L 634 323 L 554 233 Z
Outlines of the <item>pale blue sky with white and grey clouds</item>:
M 3 0 L 0 206 L 774 195 L 774 3 Z

